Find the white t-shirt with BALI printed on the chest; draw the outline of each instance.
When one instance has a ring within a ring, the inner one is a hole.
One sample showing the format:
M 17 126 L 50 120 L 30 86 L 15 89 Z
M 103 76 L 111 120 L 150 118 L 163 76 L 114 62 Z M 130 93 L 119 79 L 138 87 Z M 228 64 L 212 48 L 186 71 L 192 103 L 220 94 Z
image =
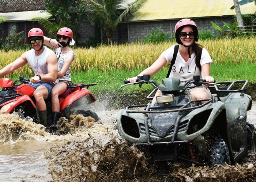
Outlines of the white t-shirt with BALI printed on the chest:
M 173 58 L 174 47 L 175 45 L 163 51 L 162 53 L 168 63 L 170 63 Z M 205 48 L 203 48 L 200 65 L 202 66 L 203 64 L 211 62 L 212 59 L 210 54 Z M 189 58 L 188 61 L 185 62 L 185 60 L 180 55 L 180 51 L 178 51 L 175 64 L 172 67 L 169 77 L 179 78 L 181 82 L 184 82 L 187 80 L 192 80 L 194 75 L 201 76 L 201 71 L 198 67 L 196 67 L 195 53 L 193 52 L 191 58 Z

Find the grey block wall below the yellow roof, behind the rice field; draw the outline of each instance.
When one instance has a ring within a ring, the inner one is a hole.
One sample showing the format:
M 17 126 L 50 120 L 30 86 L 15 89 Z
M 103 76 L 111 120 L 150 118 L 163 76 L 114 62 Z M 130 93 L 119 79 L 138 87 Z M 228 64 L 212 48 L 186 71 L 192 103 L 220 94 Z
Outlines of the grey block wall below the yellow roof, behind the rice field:
M 234 21 L 233 16 L 226 17 L 210 17 L 210 18 L 197 18 L 192 19 L 195 21 L 199 30 L 211 30 L 212 33 L 218 33 L 214 31 L 211 21 L 213 21 L 218 26 L 222 27 L 224 24 L 222 21 L 232 24 Z M 134 43 L 137 40 L 141 41 L 145 36 L 150 35 L 152 29 L 157 31 L 161 27 L 161 31 L 164 31 L 167 36 L 174 33 L 174 27 L 178 20 L 163 20 L 163 21 L 144 21 L 144 22 L 134 22 L 134 23 L 120 23 L 118 28 L 113 33 L 113 40 L 116 43 L 128 42 Z M 98 33 L 98 34 L 97 34 Z M 97 35 L 96 35 L 97 34 Z M 79 45 L 86 44 L 89 37 L 94 37 L 98 39 L 99 29 L 96 29 L 92 23 L 84 23 L 80 26 L 78 31 L 78 40 L 76 43 Z M 103 35 L 105 36 L 105 35 Z M 106 38 L 105 38 L 106 39 Z

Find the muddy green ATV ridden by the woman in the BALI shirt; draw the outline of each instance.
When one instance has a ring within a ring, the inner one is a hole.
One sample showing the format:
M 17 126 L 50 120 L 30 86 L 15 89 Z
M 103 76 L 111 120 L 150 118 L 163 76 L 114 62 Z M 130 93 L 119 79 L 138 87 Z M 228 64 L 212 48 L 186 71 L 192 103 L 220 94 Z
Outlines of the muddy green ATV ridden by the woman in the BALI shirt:
M 117 114 L 118 131 L 153 161 L 189 161 L 199 165 L 234 165 L 248 150 L 256 151 L 256 132 L 246 123 L 252 98 L 244 94 L 247 80 L 206 83 L 200 76 L 185 83 L 165 78 L 159 85 L 149 75 L 136 83 L 151 84 L 162 95 L 151 103 L 127 106 Z M 210 84 L 212 98 L 191 100 L 190 88 Z M 238 89 L 237 89 L 238 88 Z M 203 103 L 203 104 L 202 104 Z

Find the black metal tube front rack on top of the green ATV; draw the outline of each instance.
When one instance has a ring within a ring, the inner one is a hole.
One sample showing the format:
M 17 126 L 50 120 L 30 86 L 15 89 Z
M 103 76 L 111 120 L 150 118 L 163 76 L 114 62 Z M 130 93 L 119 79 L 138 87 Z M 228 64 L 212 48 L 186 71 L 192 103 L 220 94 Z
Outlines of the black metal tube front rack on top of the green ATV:
M 192 106 L 192 107 L 187 107 L 189 104 L 193 104 L 193 103 L 200 103 L 202 101 L 207 101 L 199 106 Z M 150 103 L 148 104 L 139 104 L 139 105 L 131 105 L 131 106 L 127 106 L 126 107 L 126 112 L 127 113 L 165 113 L 165 112 L 182 112 L 182 111 L 187 111 L 187 110 L 192 110 L 192 109 L 197 109 L 197 108 L 201 108 L 203 106 L 206 106 L 207 104 L 209 104 L 210 102 L 212 102 L 212 99 L 197 99 L 197 100 L 190 100 L 189 102 L 187 102 L 186 104 L 182 104 L 182 105 L 174 105 L 174 106 L 169 106 L 169 107 L 164 107 L 164 106 L 151 106 L 150 107 Z M 143 111 L 135 111 L 135 110 L 129 110 L 129 108 L 136 108 L 136 107 L 147 107 L 146 110 Z M 178 109 L 171 109 L 171 108 L 177 108 L 180 107 Z M 161 111 L 156 111 L 152 109 L 166 109 L 166 110 L 161 110 Z

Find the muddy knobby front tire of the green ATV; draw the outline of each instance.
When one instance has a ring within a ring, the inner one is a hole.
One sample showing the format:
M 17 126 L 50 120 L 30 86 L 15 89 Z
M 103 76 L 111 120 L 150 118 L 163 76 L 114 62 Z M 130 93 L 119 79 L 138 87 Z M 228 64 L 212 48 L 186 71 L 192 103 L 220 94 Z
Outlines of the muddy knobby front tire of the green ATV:
M 230 163 L 229 149 L 226 142 L 220 137 L 215 137 L 210 144 L 208 162 L 211 167 L 216 164 L 225 165 L 225 163 Z

